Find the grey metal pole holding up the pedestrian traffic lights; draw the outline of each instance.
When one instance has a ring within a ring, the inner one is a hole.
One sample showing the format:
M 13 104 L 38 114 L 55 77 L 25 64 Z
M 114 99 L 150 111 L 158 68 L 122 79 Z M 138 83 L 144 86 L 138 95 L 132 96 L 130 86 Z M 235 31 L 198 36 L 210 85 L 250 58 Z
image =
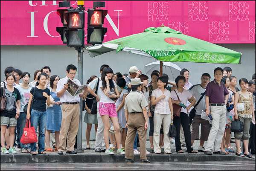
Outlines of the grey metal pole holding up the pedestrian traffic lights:
M 78 80 L 80 81 L 81 85 L 83 85 L 83 47 L 76 47 L 77 53 L 78 53 Z M 79 114 L 79 129 L 77 132 L 77 153 L 82 153 L 83 151 L 83 110 L 82 110 L 82 105 L 83 105 L 83 99 L 82 97 L 80 98 L 80 114 Z

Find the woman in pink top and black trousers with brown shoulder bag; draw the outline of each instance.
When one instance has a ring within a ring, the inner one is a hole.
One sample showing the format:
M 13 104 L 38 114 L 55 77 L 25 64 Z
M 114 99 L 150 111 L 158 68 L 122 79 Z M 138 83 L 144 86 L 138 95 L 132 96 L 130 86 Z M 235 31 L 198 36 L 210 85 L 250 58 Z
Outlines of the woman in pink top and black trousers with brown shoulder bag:
M 180 124 L 182 125 L 182 128 L 184 130 L 185 135 L 185 142 L 186 142 L 186 152 L 188 153 L 197 153 L 197 151 L 194 151 L 191 144 L 191 133 L 190 133 L 190 127 L 189 127 L 189 116 L 188 116 L 188 110 L 195 104 L 195 98 L 192 96 L 192 94 L 185 90 L 183 87 L 185 86 L 186 78 L 184 76 L 177 76 L 175 78 L 175 83 L 177 85 L 177 89 L 171 91 L 171 98 L 172 98 L 172 104 L 177 104 L 181 107 L 180 110 L 180 116 L 175 117 L 175 107 L 173 109 L 174 111 L 174 118 L 173 118 L 173 124 L 176 127 L 176 137 L 175 137 L 175 147 L 177 153 L 184 153 L 181 146 L 180 146 Z M 186 107 L 187 101 L 190 101 L 191 104 Z

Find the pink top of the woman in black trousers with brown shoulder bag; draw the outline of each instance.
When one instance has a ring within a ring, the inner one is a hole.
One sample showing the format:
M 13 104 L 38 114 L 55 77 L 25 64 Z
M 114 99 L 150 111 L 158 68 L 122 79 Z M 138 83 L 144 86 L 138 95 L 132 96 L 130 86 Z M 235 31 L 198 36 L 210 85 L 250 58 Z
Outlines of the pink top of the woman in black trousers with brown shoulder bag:
M 178 100 L 175 91 L 176 91 L 177 95 L 179 96 L 181 103 L 183 103 L 185 105 L 186 105 L 187 100 L 192 98 L 192 94 L 189 92 L 189 90 L 183 89 L 183 92 L 180 93 L 177 89 L 175 89 L 175 90 L 171 91 L 171 98 L 173 100 Z M 184 112 L 186 114 L 188 113 L 187 110 L 184 109 L 183 107 L 181 108 L 180 112 Z

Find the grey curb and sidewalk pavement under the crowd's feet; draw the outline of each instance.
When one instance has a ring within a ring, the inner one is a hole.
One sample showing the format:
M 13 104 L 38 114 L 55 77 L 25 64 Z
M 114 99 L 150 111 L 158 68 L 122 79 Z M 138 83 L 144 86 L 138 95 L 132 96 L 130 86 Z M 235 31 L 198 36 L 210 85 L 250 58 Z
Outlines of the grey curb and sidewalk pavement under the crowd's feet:
M 199 140 L 195 140 L 193 148 L 197 151 L 199 147 Z M 205 144 L 204 144 L 205 145 Z M 235 144 L 231 144 L 236 152 Z M 242 145 L 242 142 L 241 142 Z M 95 152 L 95 141 L 90 141 L 90 148 L 86 149 L 86 141 L 83 141 L 83 151 L 82 153 L 77 154 L 66 154 L 58 155 L 57 151 L 47 152 L 47 154 L 37 154 L 31 155 L 29 153 L 23 154 L 20 151 L 17 154 L 1 154 L 1 163 L 11 163 L 11 162 L 125 162 L 125 155 L 117 154 L 117 151 L 114 151 L 114 155 L 108 155 L 104 152 L 96 153 Z M 147 155 L 147 158 L 151 162 L 174 162 L 174 161 L 224 161 L 224 160 L 255 160 L 249 159 L 247 157 L 239 157 L 234 153 L 227 155 L 218 155 L 212 154 L 211 156 L 204 154 L 203 152 L 198 152 L 197 154 L 186 153 L 186 147 L 182 147 L 184 153 L 176 153 L 175 144 L 171 144 L 172 154 L 164 154 L 162 148 L 162 154 L 154 154 L 154 149 L 150 148 L 149 140 L 146 141 L 147 151 L 151 154 Z M 54 149 L 54 148 L 53 148 Z M 138 148 L 140 151 L 140 148 Z M 134 154 L 134 161 L 140 162 L 140 154 Z

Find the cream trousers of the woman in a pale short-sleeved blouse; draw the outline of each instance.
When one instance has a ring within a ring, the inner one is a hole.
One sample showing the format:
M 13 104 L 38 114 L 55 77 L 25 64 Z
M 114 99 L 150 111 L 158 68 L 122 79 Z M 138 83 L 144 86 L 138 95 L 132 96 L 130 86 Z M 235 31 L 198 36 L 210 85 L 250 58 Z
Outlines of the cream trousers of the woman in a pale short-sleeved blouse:
M 163 122 L 163 147 L 164 152 L 168 153 L 171 151 L 170 148 L 170 138 L 169 138 L 169 128 L 172 122 L 172 115 L 163 115 L 159 113 L 154 113 L 154 136 L 153 136 L 153 145 L 154 145 L 154 153 L 161 152 L 161 148 L 159 146 L 159 136 L 160 136 L 160 128 Z

